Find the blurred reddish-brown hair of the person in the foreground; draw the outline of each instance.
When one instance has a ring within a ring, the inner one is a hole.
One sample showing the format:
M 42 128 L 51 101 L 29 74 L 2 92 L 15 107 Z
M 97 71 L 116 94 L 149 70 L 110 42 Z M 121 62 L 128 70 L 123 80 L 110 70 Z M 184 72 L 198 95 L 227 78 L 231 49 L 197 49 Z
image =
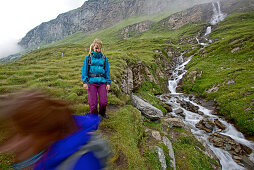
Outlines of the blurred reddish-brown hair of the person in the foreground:
M 5 130 L 12 136 L 39 137 L 44 142 L 62 139 L 76 130 L 72 113 L 66 102 L 51 99 L 38 90 L 19 92 L 3 99 L 0 104 L 0 118 L 5 122 L 4 127 L 9 127 Z

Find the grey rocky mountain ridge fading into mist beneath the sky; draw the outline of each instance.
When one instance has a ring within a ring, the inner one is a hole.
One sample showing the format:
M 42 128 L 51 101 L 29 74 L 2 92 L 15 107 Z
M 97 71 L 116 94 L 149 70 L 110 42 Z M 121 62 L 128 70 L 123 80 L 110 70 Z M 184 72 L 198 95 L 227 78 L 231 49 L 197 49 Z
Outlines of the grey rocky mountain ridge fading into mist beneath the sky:
M 80 8 L 60 14 L 29 31 L 19 42 L 23 48 L 61 40 L 77 31 L 92 33 L 126 18 L 180 11 L 212 0 L 88 0 Z

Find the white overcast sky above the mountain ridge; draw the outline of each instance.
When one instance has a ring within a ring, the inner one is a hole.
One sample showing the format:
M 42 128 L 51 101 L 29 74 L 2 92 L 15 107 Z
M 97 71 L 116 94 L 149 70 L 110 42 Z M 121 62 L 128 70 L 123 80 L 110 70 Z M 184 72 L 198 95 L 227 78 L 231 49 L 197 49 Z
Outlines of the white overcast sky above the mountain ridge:
M 1 0 L 0 58 L 16 52 L 16 43 L 28 31 L 55 19 L 59 14 L 76 9 L 86 0 Z

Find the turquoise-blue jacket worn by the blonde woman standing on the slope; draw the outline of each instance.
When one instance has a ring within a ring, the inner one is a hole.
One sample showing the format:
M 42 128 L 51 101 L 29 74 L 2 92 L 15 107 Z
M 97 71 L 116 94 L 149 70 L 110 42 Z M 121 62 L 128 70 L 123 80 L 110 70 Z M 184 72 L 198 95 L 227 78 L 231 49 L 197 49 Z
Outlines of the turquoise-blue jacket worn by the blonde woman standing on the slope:
M 110 84 L 110 69 L 109 69 L 109 62 L 106 57 L 105 61 L 105 70 L 104 70 L 104 62 L 103 62 L 103 54 L 96 53 L 96 52 L 91 52 L 92 55 L 92 60 L 91 60 L 91 65 L 90 65 L 90 71 L 88 70 L 88 58 L 89 55 L 86 56 L 83 67 L 82 67 L 82 80 L 83 83 L 95 83 L 95 84 L 101 84 L 101 83 L 107 83 Z M 88 73 L 93 73 L 93 74 L 105 74 L 105 77 L 88 77 Z

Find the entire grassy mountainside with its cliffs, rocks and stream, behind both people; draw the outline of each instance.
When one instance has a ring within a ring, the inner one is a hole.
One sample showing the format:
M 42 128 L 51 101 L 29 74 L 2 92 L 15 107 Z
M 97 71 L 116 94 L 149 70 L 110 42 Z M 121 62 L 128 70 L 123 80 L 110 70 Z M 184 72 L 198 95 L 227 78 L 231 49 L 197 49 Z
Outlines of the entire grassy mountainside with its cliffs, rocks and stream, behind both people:
M 96 38 L 112 80 L 107 169 L 253 169 L 253 0 L 88 0 L 0 59 L 0 99 L 40 89 L 89 113 L 81 69 Z M 0 169 L 13 160 L 0 154 Z

